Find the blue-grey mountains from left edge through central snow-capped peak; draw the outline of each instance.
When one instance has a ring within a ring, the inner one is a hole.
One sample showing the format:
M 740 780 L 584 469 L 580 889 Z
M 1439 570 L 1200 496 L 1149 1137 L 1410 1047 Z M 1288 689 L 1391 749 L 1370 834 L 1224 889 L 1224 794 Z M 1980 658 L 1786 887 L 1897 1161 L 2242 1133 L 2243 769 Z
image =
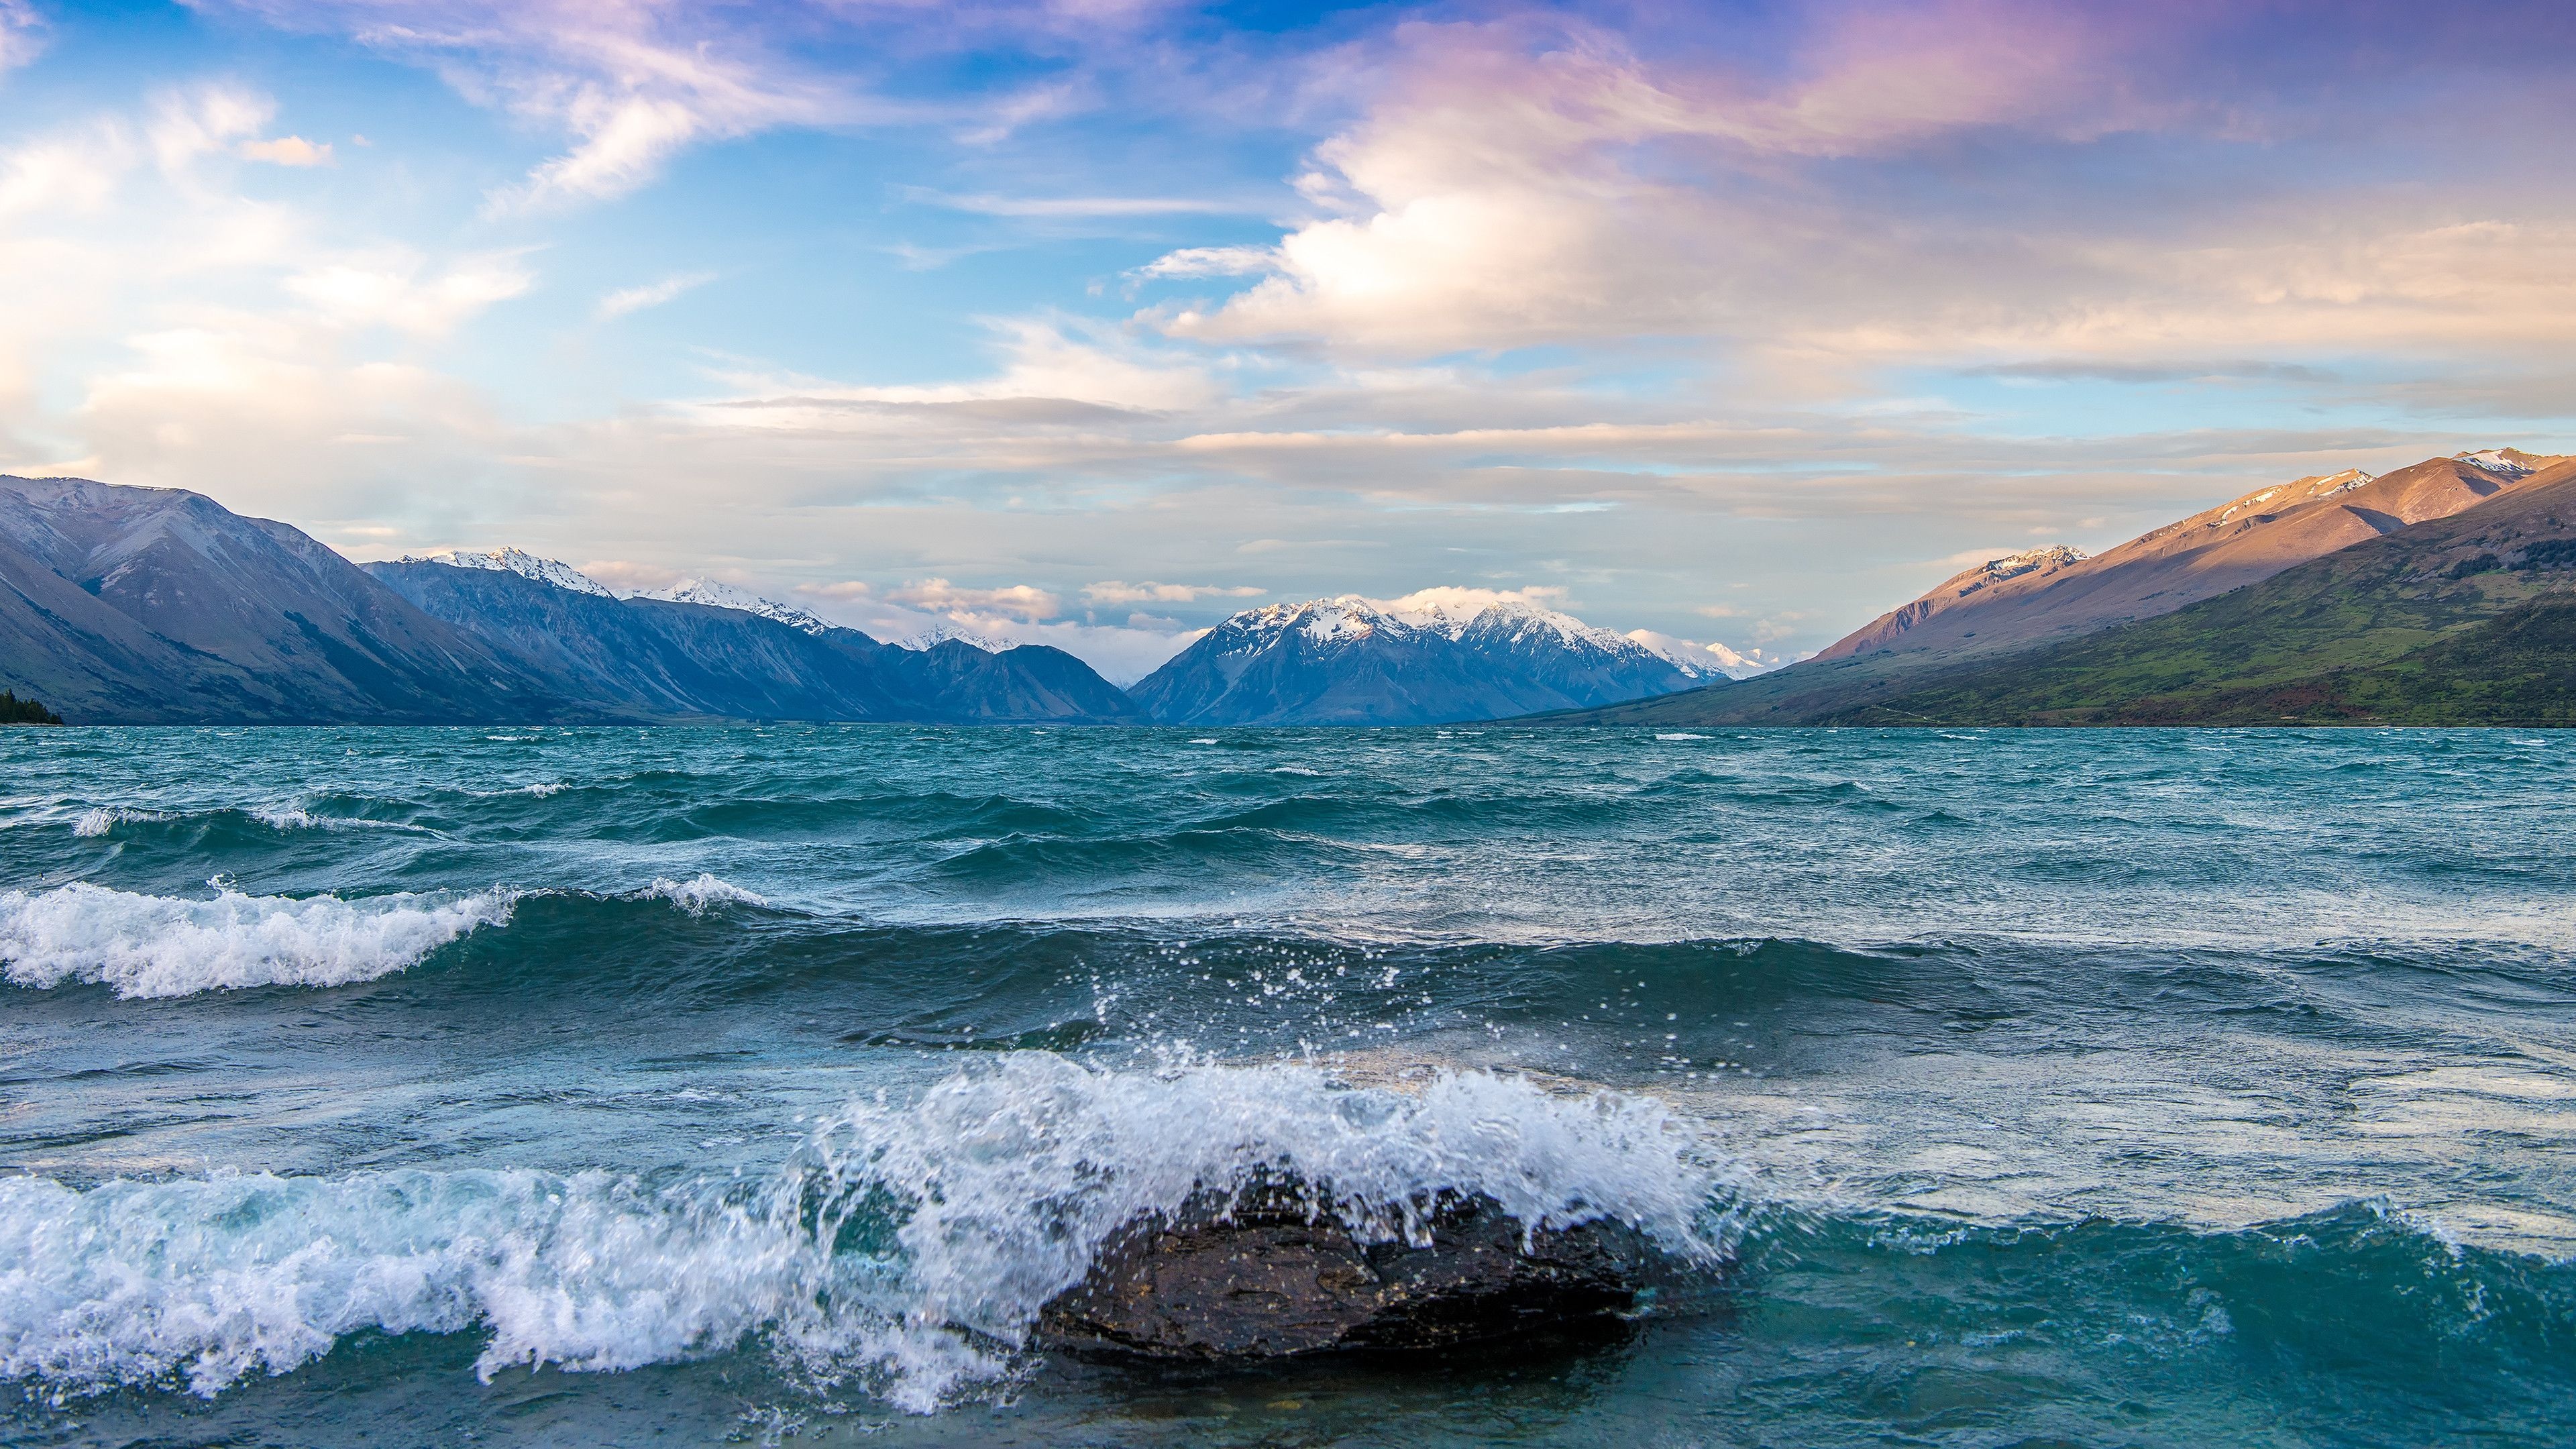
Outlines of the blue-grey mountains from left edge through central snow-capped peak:
M 621 593 L 520 549 L 358 567 L 196 492 L 0 477 L 0 686 L 72 722 L 1409 724 L 1718 678 L 1448 593 L 1244 611 L 1121 691 L 1048 645 L 886 645 L 721 580 Z

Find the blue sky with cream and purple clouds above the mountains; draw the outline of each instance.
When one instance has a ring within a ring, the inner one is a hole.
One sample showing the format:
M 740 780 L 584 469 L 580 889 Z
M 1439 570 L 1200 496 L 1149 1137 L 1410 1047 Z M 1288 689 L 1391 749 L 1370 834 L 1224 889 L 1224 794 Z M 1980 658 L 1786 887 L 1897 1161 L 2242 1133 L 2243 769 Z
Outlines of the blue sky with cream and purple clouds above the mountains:
M 2576 8 L 0 0 L 0 472 L 1136 678 L 2576 451 Z

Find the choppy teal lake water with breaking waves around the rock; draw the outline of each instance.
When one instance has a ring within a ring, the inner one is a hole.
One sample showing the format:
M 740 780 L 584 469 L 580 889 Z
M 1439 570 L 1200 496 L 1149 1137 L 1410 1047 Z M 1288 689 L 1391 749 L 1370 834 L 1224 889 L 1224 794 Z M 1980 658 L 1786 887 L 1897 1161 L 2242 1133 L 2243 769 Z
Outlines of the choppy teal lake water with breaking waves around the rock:
M 2566 1444 L 2576 740 L 0 732 L 8 1444 Z M 1623 1343 L 1030 1312 L 1291 1160 Z

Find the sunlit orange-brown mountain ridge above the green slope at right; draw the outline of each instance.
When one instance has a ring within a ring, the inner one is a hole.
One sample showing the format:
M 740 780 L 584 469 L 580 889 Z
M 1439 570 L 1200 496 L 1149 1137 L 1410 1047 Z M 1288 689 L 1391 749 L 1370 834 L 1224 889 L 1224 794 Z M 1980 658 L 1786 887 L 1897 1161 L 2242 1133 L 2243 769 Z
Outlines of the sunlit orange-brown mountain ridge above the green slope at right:
M 1999 652 L 2092 634 L 2172 614 L 2411 523 L 2447 518 L 2514 487 L 2566 477 L 2568 467 L 2576 459 L 2494 449 L 2427 459 L 2383 477 L 2344 469 L 2262 487 L 2097 557 L 2061 547 L 1978 565 L 1880 614 L 1816 657 L 1886 650 Z

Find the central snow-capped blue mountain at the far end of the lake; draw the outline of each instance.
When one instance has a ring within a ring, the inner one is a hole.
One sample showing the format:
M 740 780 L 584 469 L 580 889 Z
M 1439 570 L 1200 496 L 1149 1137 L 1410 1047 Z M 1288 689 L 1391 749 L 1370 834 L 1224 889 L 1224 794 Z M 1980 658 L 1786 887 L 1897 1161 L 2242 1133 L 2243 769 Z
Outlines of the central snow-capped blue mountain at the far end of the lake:
M 1571 614 L 1432 588 L 1247 608 L 1128 694 L 1164 724 L 1450 724 L 1692 688 L 1708 676 Z

